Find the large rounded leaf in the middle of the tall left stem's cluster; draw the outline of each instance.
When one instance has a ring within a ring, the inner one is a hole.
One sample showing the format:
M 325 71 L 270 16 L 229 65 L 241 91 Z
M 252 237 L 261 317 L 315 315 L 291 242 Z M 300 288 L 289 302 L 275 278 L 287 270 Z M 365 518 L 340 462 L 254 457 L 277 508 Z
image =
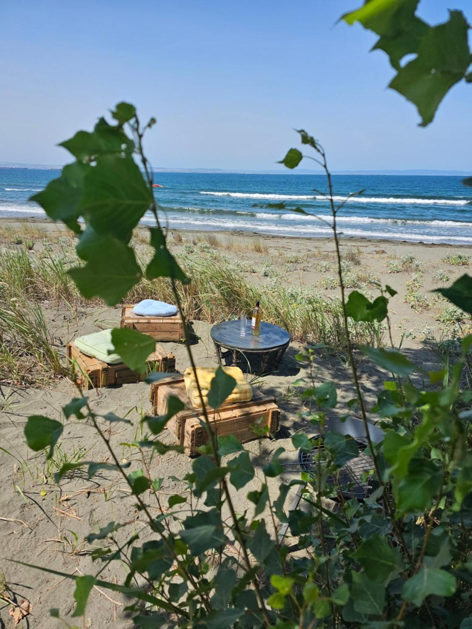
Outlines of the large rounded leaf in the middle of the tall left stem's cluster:
M 133 158 L 103 155 L 87 172 L 79 210 L 97 233 L 127 243 L 151 203 L 152 192 Z

